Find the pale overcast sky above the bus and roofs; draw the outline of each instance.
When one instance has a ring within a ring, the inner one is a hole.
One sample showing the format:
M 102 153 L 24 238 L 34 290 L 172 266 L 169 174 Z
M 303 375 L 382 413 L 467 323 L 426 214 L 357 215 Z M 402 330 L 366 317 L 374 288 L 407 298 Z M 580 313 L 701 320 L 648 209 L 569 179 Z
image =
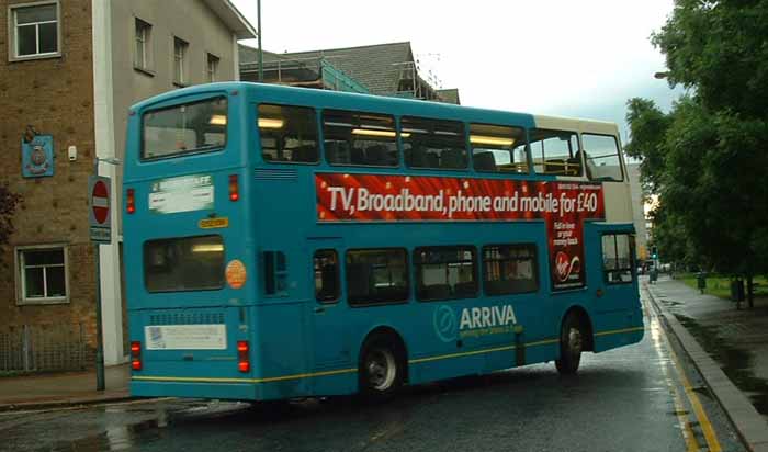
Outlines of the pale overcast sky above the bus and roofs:
M 257 1 L 233 0 L 257 26 Z M 261 1 L 262 45 L 302 52 L 409 41 L 422 77 L 463 105 L 619 124 L 626 100 L 668 110 L 680 89 L 654 74 L 650 42 L 673 0 Z M 246 44 L 257 46 L 256 39 Z M 431 74 L 431 76 L 430 76 Z

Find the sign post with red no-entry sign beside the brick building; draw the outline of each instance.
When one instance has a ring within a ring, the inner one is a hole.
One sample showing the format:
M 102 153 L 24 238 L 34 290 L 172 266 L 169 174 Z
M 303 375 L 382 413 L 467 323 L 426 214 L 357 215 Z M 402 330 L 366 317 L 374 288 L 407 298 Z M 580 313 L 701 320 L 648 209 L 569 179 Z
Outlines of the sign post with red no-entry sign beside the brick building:
M 95 165 L 99 165 L 99 160 L 97 160 Z M 101 256 L 99 246 L 112 241 L 110 187 L 110 178 L 102 176 L 88 178 L 89 230 L 93 242 L 97 265 L 97 391 L 104 391 L 104 338 L 101 321 Z

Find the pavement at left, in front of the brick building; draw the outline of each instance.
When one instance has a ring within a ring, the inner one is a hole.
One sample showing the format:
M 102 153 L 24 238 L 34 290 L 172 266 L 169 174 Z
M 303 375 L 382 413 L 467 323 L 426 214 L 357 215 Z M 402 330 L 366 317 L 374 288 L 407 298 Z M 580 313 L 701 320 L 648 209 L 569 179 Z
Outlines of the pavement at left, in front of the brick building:
M 104 391 L 97 391 L 95 371 L 0 378 L 0 411 L 64 408 L 131 398 L 128 364 L 104 370 Z

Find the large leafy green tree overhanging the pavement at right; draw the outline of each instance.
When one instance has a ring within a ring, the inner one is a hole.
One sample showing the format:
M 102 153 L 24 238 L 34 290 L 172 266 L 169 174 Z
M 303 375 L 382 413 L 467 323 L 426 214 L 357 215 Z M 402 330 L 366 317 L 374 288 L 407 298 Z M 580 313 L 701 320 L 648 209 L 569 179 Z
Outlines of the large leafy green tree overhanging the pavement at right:
M 631 99 L 626 115 L 628 154 L 663 206 L 659 248 L 745 276 L 750 306 L 754 275 L 768 271 L 767 35 L 768 0 L 676 0 L 652 42 L 669 83 L 691 94 L 668 114 Z

